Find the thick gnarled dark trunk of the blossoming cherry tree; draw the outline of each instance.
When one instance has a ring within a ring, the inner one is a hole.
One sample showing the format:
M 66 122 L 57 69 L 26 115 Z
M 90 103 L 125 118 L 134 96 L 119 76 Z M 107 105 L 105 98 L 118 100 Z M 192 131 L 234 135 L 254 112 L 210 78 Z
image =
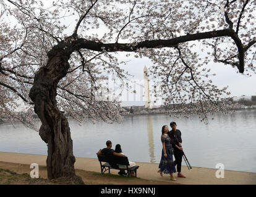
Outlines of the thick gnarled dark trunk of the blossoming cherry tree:
M 48 179 L 65 177 L 83 183 L 75 175 L 72 139 L 69 123 L 56 105 L 56 89 L 69 69 L 70 55 L 63 49 L 52 49 L 48 63 L 35 74 L 30 98 L 35 104 L 35 113 L 41 120 L 39 135 L 48 144 Z

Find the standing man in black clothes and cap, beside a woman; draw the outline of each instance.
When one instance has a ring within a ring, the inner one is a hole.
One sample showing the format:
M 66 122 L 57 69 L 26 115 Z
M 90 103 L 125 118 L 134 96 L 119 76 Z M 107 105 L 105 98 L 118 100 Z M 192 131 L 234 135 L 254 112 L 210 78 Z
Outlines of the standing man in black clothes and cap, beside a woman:
M 177 124 L 175 122 L 171 122 L 170 126 L 172 130 L 168 132 L 168 135 L 171 138 L 171 145 L 174 148 L 174 166 L 177 165 L 177 177 L 186 178 L 185 175 L 181 174 L 181 162 L 183 156 L 183 148 L 181 147 L 181 131 L 179 131 L 179 129 L 176 129 Z

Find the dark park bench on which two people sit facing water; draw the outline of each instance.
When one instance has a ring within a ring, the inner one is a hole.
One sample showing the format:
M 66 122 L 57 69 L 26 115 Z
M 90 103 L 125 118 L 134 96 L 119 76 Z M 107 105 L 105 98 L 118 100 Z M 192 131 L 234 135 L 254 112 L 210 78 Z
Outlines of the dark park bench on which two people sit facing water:
M 128 177 L 130 177 L 130 172 L 134 171 L 135 172 L 135 177 L 137 177 L 137 169 L 139 168 L 139 166 L 132 166 L 129 167 L 129 160 L 124 156 L 104 156 L 104 155 L 98 155 L 98 159 L 100 161 L 100 168 L 101 168 L 101 174 L 104 174 L 106 171 L 108 171 L 108 173 L 110 173 L 110 169 L 117 169 L 117 170 L 125 170 L 127 171 L 127 175 Z M 104 163 L 105 164 L 102 164 Z M 125 165 L 125 168 L 120 168 L 119 165 Z

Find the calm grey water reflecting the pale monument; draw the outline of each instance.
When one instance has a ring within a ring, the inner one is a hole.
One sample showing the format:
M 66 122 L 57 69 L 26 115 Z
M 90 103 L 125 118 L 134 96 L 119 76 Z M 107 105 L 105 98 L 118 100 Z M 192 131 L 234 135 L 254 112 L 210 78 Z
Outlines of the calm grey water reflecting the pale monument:
M 161 127 L 176 121 L 182 132 L 182 147 L 191 166 L 256 172 L 256 110 L 237 111 L 231 115 L 217 114 L 206 125 L 197 116 L 170 119 L 168 115 L 141 115 L 124 118 L 123 123 L 84 123 L 69 121 L 74 155 L 96 158 L 106 140 L 113 147 L 120 143 L 131 161 L 159 163 L 161 158 Z M 170 127 L 169 127 L 170 129 Z M 0 124 L 0 151 L 47 155 L 46 144 L 38 132 L 22 124 L 13 127 Z M 182 161 L 182 165 L 186 165 Z

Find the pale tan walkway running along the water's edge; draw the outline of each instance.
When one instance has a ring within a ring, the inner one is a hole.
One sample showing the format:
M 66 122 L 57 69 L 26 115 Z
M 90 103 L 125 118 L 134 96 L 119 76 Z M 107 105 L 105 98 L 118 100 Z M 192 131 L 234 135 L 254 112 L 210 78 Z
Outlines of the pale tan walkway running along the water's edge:
M 35 155 L 25 153 L 7 153 L 0 152 L 0 161 L 3 163 L 12 163 L 16 166 L 27 164 L 29 167 L 32 163 L 37 163 L 40 167 L 46 166 L 46 155 Z M 90 171 L 93 173 L 100 173 L 100 163 L 98 159 L 93 158 L 75 158 L 76 171 Z M 140 166 L 137 171 L 137 177 L 140 179 L 150 180 L 153 182 L 166 182 L 166 184 L 185 184 L 185 185 L 256 185 L 255 172 L 241 172 L 241 171 L 224 171 L 224 178 L 216 178 L 218 169 L 210 169 L 205 167 L 193 167 L 187 169 L 187 166 L 182 166 L 182 173 L 187 176 L 184 178 L 177 178 L 176 182 L 169 180 L 169 175 L 160 177 L 158 171 L 158 164 L 153 163 L 135 163 Z M 8 166 L 6 166 L 8 168 Z M 32 169 L 27 169 L 31 171 Z M 111 169 L 111 174 L 117 175 L 116 170 Z M 174 174 L 177 176 L 177 173 Z M 45 175 L 43 175 L 45 177 Z M 47 177 L 46 177 L 47 178 Z M 101 179 L 98 177 L 97 179 Z

